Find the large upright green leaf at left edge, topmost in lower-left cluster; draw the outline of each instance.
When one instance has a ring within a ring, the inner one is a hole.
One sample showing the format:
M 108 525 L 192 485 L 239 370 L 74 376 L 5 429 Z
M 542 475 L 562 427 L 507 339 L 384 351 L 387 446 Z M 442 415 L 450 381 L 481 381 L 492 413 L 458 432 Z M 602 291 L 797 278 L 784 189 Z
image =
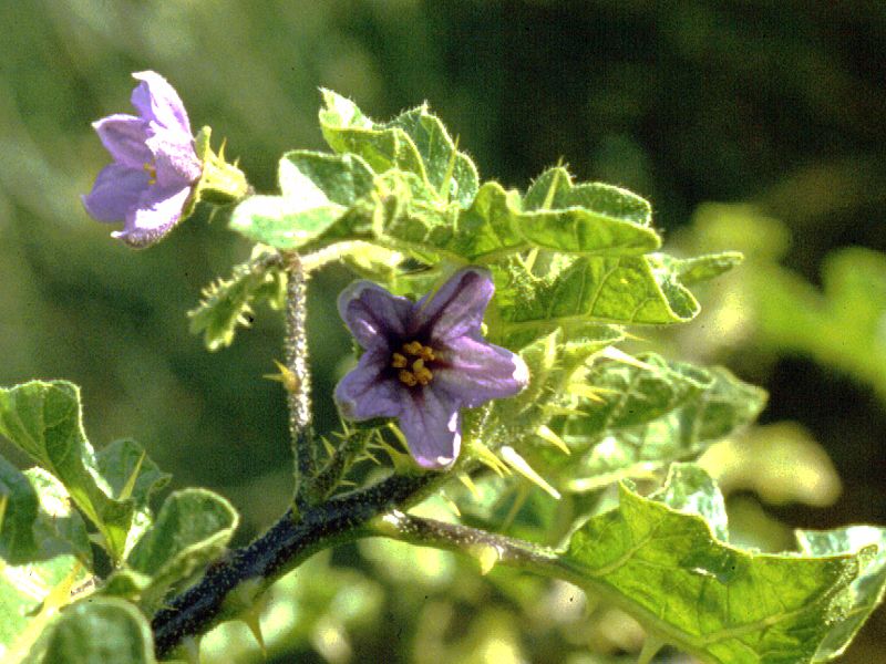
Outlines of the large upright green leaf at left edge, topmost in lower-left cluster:
M 133 502 L 110 497 L 83 432 L 80 390 L 64 381 L 33 381 L 0 390 L 0 434 L 58 477 L 95 525 L 113 558 L 123 552 Z

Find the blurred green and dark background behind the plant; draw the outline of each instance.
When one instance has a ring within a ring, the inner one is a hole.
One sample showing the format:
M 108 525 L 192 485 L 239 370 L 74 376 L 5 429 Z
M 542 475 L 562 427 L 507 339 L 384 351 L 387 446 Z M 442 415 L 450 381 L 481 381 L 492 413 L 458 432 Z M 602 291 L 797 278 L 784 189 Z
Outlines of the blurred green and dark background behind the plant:
M 284 151 L 322 147 L 326 86 L 380 120 L 430 101 L 485 178 L 525 188 L 563 157 L 580 179 L 648 197 L 670 249 L 745 251 L 699 293 L 696 322 L 640 332 L 771 392 L 766 426 L 707 459 L 735 531 L 779 548 L 785 523 L 886 523 L 886 6 L 30 0 L 0 3 L 0 384 L 80 384 L 94 444 L 133 436 L 175 487 L 223 492 L 241 541 L 289 492 L 284 400 L 261 378 L 281 321 L 259 311 L 207 353 L 185 311 L 249 247 L 203 210 L 133 252 L 83 211 L 109 160 L 90 122 L 130 112 L 133 71 L 167 76 L 259 190 Z M 350 349 L 334 311 L 348 279 L 312 282 L 324 430 Z M 640 643 L 575 589 L 481 579 L 444 553 L 372 542 L 309 566 L 269 601 L 271 661 L 588 664 Z M 880 611 L 844 661 L 882 660 L 883 634 Z M 261 657 L 241 625 L 206 655 Z

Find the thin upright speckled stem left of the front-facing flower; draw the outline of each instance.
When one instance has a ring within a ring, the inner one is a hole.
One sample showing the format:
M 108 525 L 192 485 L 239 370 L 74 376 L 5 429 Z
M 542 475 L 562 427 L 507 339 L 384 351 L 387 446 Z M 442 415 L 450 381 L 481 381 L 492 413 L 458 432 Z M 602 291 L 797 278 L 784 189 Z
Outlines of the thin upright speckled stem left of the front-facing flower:
M 284 253 L 286 283 L 286 367 L 292 377 L 287 385 L 289 437 L 295 457 L 296 504 L 306 499 L 306 490 L 317 474 L 317 459 L 311 427 L 311 376 L 308 369 L 307 281 L 301 258 L 295 251 Z

